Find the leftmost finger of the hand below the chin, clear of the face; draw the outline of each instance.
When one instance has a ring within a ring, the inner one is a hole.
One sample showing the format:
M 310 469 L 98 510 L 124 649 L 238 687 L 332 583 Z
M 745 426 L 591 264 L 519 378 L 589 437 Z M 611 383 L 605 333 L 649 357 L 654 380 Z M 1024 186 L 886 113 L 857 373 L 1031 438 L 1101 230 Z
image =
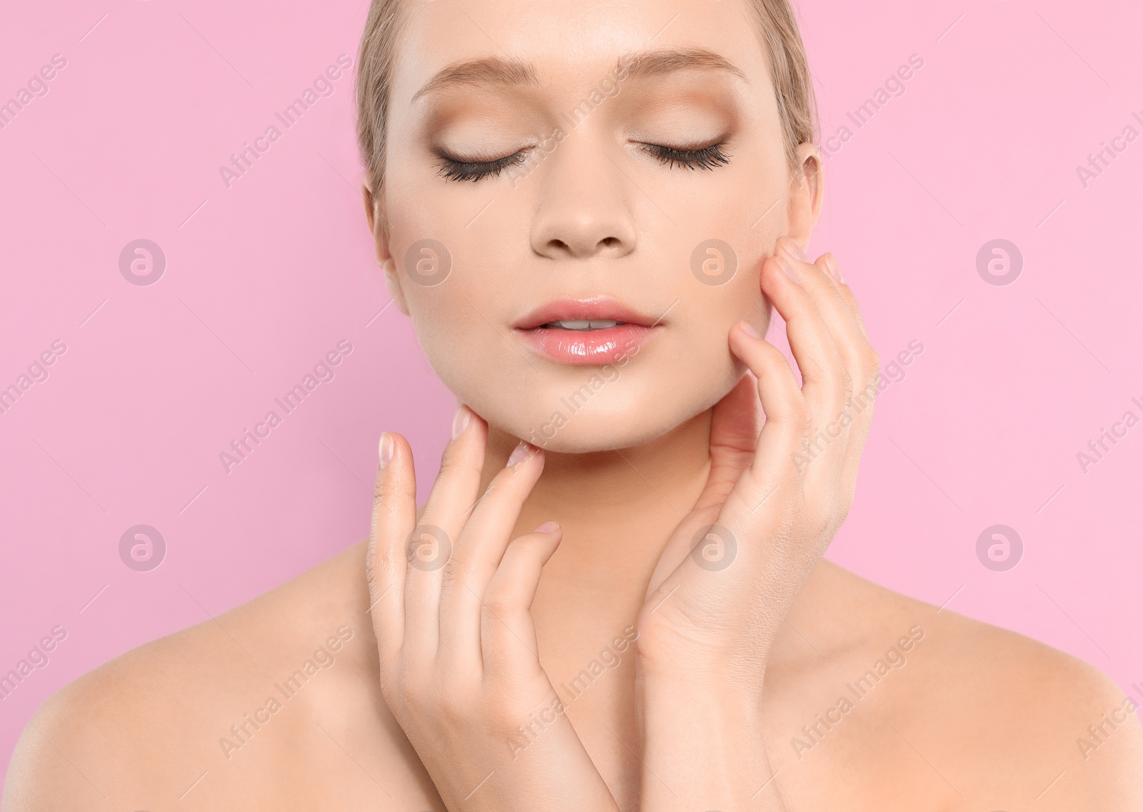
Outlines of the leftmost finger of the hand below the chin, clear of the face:
M 378 442 L 379 466 L 366 549 L 369 609 L 382 670 L 401 650 L 405 635 L 405 540 L 416 523 L 413 452 L 399 434 Z

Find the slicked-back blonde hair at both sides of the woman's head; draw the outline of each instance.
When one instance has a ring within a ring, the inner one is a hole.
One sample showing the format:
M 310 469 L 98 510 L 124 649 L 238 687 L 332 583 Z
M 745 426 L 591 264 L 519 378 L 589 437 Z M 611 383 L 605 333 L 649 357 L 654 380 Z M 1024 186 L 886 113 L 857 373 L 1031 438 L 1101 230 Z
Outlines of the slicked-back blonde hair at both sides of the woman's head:
M 806 47 L 789 0 L 750 0 L 770 57 L 786 164 L 798 177 L 798 145 L 817 142 L 817 104 Z M 381 195 L 385 177 L 385 124 L 393 64 L 403 18 L 402 0 L 373 0 L 358 54 L 358 147 L 371 178 L 369 191 Z

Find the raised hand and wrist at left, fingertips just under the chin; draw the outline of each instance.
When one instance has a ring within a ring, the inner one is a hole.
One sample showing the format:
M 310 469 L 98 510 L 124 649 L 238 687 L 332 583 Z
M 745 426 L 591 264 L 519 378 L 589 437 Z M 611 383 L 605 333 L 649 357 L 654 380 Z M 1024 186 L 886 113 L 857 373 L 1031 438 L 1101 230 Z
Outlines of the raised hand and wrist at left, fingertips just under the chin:
M 520 443 L 480 495 L 487 436 L 462 405 L 419 522 L 411 450 L 381 437 L 366 576 L 382 693 L 451 812 L 616 812 L 536 653 L 560 529 L 509 544 L 543 451 Z

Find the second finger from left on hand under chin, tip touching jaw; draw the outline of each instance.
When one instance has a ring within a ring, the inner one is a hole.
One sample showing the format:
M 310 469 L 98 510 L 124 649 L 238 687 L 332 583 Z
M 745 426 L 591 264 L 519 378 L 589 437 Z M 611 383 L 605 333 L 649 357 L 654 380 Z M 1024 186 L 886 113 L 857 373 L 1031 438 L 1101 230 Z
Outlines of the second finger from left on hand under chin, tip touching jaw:
M 453 420 L 455 435 L 445 447 L 440 472 L 424 513 L 408 538 L 405 584 L 407 654 L 429 660 L 440 640 L 440 585 L 453 548 L 480 490 L 488 424 L 465 405 Z

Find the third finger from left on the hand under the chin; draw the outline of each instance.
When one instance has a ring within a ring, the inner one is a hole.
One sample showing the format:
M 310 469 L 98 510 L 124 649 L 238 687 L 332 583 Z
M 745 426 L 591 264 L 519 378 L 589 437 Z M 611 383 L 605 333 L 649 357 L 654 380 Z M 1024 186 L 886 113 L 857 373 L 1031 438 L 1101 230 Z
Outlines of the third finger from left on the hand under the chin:
M 493 477 L 453 550 L 440 596 L 440 656 L 480 653 L 480 606 L 501 564 L 525 499 L 544 469 L 544 452 L 521 442 Z

